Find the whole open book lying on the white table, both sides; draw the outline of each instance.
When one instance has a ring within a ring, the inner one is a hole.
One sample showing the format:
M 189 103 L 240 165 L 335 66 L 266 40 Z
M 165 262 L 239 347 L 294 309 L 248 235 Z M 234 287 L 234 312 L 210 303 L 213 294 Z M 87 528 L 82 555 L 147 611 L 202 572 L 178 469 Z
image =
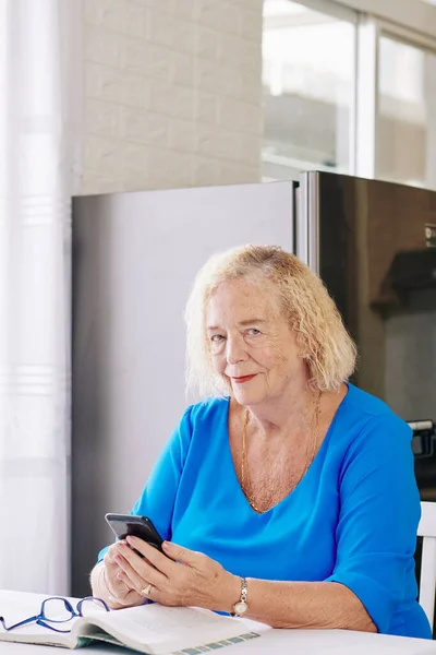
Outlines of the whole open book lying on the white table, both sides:
M 5 614 L 5 612 L 4 612 Z M 32 615 L 31 615 L 32 616 Z M 95 640 L 128 646 L 150 655 L 191 655 L 215 651 L 220 646 L 259 636 L 238 619 L 223 617 L 207 609 L 142 605 L 106 612 L 93 610 L 86 618 L 74 618 L 59 628 L 59 633 L 31 623 L 5 632 L 0 628 L 0 641 L 77 648 Z

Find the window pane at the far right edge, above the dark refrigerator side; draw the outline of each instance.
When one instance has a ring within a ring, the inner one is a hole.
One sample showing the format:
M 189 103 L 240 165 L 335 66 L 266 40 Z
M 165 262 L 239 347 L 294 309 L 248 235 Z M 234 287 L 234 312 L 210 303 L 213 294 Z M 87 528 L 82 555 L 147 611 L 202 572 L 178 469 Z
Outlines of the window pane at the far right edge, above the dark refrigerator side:
M 436 56 L 383 36 L 378 94 L 377 178 L 436 188 Z

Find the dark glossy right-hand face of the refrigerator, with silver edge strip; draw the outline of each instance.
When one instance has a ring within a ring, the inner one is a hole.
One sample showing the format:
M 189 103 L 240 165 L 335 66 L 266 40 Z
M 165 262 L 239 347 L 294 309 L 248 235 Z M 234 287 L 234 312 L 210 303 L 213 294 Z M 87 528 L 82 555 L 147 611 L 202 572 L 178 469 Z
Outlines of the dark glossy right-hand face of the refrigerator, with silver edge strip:
M 298 194 L 296 253 L 358 343 L 354 381 L 407 420 L 435 417 L 436 192 L 308 172 Z

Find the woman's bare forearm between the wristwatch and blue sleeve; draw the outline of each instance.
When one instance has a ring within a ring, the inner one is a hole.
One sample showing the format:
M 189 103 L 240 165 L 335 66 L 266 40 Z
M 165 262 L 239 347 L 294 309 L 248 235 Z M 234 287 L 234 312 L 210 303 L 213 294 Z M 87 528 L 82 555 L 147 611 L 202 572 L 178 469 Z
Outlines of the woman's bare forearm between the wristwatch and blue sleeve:
M 247 579 L 247 618 L 272 628 L 377 632 L 358 596 L 336 582 L 271 582 Z

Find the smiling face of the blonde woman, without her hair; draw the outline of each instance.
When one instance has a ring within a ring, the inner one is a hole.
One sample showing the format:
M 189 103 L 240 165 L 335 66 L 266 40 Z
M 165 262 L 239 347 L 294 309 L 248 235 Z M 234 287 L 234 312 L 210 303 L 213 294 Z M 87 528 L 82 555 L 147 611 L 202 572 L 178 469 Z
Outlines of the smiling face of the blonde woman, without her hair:
M 207 307 L 206 327 L 213 367 L 241 405 L 274 401 L 306 383 L 307 367 L 269 284 L 246 278 L 220 284 Z

